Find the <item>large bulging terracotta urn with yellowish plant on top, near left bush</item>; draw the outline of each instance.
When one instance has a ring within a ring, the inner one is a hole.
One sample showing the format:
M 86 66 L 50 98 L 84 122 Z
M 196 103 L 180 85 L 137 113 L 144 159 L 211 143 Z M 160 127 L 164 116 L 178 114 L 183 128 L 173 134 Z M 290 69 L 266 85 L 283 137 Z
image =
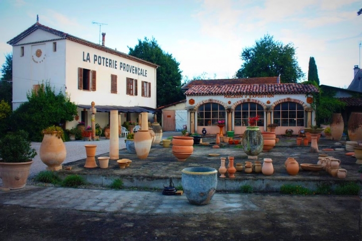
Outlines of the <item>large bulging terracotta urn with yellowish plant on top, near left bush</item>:
M 44 133 L 39 150 L 40 160 L 47 165 L 46 170 L 58 171 L 66 157 L 66 149 L 63 140 L 58 136 L 58 131 Z

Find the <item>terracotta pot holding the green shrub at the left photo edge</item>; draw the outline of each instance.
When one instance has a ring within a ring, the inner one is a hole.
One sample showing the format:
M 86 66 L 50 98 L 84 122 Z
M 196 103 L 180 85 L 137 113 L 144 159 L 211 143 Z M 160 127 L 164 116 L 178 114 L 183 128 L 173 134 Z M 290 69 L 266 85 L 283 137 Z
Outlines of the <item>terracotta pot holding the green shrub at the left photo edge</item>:
M 0 162 L 2 186 L 11 190 L 23 188 L 26 185 L 32 163 L 33 161 L 19 163 Z

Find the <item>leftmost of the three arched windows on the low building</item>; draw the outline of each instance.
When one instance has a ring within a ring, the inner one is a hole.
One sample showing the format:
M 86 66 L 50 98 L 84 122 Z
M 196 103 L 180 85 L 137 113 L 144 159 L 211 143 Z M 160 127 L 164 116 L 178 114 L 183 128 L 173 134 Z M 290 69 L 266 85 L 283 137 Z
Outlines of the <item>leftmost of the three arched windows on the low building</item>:
M 217 125 L 225 121 L 225 107 L 217 103 L 206 103 L 197 109 L 197 125 Z

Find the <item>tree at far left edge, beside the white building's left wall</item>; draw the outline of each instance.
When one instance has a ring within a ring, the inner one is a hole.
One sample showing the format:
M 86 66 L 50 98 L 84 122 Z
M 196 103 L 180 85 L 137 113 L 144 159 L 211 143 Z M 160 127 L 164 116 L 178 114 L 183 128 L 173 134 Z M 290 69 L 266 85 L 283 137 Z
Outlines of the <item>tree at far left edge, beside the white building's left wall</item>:
M 0 78 L 0 100 L 6 101 L 10 106 L 12 102 L 12 54 L 5 55 L 5 62 L 0 69 L 2 76 Z

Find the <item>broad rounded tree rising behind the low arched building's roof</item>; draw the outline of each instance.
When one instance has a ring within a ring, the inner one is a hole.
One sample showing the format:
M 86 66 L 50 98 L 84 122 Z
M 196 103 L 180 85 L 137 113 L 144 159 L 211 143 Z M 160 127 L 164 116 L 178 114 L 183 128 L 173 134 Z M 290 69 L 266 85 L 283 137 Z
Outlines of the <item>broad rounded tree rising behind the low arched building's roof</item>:
M 268 34 L 257 40 L 254 46 L 243 49 L 240 57 L 244 62 L 235 74 L 237 78 L 280 74 L 282 83 L 297 83 L 304 77 L 293 44 L 283 45 Z

